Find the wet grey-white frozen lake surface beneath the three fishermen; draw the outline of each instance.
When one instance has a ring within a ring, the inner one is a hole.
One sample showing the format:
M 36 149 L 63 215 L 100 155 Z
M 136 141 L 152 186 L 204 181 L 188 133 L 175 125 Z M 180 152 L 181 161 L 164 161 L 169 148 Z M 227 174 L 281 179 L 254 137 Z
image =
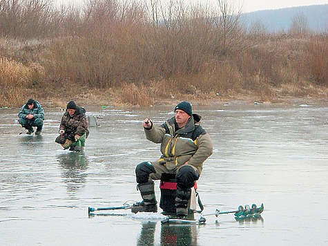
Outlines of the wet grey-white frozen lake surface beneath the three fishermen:
M 226 214 L 205 225 L 161 225 L 148 213 L 89 218 L 88 207 L 141 200 L 135 165 L 160 157 L 142 120 L 162 124 L 173 107 L 86 110 L 99 126 L 72 153 L 55 143 L 59 108 L 44 108 L 41 136 L 15 123 L 19 108 L 0 109 L 1 245 L 328 244 L 327 105 L 194 106 L 214 145 L 197 182 L 204 214 L 264 203 L 258 220 Z

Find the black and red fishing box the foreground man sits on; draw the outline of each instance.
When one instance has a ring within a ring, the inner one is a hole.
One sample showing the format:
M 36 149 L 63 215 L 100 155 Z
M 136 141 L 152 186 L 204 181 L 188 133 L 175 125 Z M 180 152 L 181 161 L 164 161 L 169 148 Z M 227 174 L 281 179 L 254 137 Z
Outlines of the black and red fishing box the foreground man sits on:
M 191 199 L 188 202 L 188 210 L 195 211 L 195 191 L 197 189 L 197 183 L 191 188 Z M 163 209 L 166 214 L 175 214 L 175 197 L 177 196 L 177 180 L 175 174 L 163 173 L 160 180 L 160 208 Z

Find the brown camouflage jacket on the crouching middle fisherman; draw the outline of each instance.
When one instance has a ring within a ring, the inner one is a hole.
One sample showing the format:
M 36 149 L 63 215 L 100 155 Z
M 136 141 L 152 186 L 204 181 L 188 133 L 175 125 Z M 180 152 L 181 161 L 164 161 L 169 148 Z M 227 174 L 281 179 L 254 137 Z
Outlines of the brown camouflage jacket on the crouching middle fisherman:
M 74 136 L 83 135 L 86 133 L 88 136 L 88 120 L 86 120 L 85 110 L 82 107 L 77 107 L 74 115 L 70 115 L 68 111 L 66 111 L 61 117 L 61 122 L 59 126 L 59 130 L 63 129 L 64 138 L 75 141 Z

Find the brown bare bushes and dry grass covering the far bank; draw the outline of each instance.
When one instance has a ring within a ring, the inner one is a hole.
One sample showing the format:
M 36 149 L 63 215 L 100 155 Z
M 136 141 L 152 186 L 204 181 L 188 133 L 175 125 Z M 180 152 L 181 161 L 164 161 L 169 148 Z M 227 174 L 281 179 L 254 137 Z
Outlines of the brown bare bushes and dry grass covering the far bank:
M 90 0 L 82 10 L 19 0 L 12 23 L 29 1 L 46 4 L 34 6 L 26 36 L 23 23 L 0 27 L 0 106 L 327 97 L 327 34 L 247 32 L 224 0 L 219 9 Z

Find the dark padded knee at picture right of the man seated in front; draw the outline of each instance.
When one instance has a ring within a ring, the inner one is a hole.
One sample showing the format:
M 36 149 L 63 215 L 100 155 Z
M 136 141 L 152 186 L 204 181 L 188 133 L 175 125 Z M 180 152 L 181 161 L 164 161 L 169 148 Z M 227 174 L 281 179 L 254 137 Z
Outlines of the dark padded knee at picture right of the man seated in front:
M 177 180 L 177 185 L 181 188 L 191 188 L 195 185 L 195 180 L 198 180 L 200 176 L 198 175 L 197 169 L 191 165 L 183 165 L 177 170 L 177 175 L 175 176 Z

